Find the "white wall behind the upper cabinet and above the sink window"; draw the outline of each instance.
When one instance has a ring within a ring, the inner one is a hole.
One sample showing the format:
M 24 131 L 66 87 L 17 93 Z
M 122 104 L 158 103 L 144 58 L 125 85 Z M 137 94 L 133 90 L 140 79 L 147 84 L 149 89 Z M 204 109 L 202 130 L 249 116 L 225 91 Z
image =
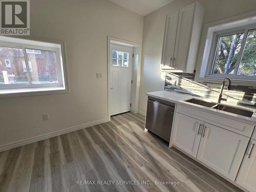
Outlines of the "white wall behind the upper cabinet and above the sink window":
M 176 0 L 144 17 L 139 111 L 145 112 L 145 93 L 164 89 L 160 70 L 165 16 L 195 0 Z M 204 24 L 255 11 L 255 0 L 198 0 L 205 8 Z

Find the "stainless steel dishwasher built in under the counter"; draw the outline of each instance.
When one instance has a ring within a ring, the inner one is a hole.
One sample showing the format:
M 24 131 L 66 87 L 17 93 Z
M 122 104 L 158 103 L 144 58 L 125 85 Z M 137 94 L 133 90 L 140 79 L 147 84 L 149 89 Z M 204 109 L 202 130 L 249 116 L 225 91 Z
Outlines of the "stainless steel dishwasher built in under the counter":
M 148 97 L 145 128 L 165 141 L 170 141 L 175 103 Z

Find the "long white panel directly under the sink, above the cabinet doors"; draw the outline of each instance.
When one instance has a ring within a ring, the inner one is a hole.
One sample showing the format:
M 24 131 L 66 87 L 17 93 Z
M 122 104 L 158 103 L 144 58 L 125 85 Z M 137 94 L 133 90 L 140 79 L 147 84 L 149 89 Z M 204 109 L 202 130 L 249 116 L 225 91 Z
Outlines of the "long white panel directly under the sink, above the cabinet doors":
M 251 134 L 254 130 L 254 125 L 228 119 L 219 115 L 206 113 L 180 104 L 177 105 L 177 112 L 214 124 L 216 126 L 220 126 L 224 129 L 244 135 L 246 137 L 251 137 Z

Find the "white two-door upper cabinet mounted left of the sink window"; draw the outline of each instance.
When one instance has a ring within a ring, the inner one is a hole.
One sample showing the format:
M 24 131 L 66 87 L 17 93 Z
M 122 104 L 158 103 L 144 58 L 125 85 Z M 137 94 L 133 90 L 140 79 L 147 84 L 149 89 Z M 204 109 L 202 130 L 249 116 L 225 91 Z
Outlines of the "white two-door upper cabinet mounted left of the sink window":
M 203 16 L 198 2 L 166 16 L 162 70 L 194 72 Z

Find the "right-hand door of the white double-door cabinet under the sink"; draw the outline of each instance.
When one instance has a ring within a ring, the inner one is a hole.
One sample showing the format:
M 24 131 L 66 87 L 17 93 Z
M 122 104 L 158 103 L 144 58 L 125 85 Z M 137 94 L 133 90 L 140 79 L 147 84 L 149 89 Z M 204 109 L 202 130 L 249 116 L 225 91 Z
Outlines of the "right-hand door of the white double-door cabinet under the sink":
M 248 142 L 248 137 L 204 123 L 197 159 L 234 181 Z

